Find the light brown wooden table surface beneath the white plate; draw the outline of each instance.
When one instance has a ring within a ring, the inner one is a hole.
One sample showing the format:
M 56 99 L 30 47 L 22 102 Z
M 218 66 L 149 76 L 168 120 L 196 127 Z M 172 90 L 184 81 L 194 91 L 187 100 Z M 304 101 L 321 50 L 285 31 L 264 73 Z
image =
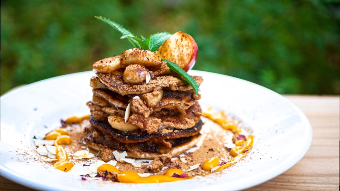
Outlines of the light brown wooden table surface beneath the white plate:
M 339 190 L 339 96 L 284 95 L 308 117 L 313 140 L 306 155 L 292 168 L 255 190 Z M 0 190 L 32 190 L 0 177 Z

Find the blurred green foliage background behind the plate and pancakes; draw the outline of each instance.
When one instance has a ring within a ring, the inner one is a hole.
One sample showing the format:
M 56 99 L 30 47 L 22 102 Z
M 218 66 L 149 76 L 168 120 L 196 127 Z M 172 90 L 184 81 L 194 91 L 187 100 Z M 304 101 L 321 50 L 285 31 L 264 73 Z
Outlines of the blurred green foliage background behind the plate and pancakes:
M 183 31 L 193 69 L 235 76 L 278 93 L 339 94 L 339 0 L 1 0 L 1 94 L 92 69 L 133 48 L 94 16 L 136 36 Z

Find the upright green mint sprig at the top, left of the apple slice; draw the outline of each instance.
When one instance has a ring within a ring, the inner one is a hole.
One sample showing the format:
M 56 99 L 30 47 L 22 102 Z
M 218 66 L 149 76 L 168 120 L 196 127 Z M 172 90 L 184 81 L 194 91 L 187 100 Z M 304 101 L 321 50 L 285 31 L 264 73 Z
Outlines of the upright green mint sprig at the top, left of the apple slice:
M 150 50 L 151 52 L 154 52 L 158 50 L 160 45 L 162 45 L 163 42 L 166 41 L 171 36 L 170 33 L 163 32 L 163 33 L 156 33 L 156 34 L 150 35 L 148 38 L 145 38 L 143 36 L 141 36 L 141 38 L 138 38 L 134 34 L 132 34 L 129 30 L 125 29 L 122 25 L 114 21 L 111 21 L 110 19 L 107 19 L 102 16 L 99 16 L 99 17 L 95 16 L 95 17 L 101 21 L 108 23 L 113 28 L 115 28 L 117 31 L 122 33 L 123 36 L 120 38 L 121 39 L 127 38 L 133 44 L 135 48 L 141 48 L 143 50 Z

